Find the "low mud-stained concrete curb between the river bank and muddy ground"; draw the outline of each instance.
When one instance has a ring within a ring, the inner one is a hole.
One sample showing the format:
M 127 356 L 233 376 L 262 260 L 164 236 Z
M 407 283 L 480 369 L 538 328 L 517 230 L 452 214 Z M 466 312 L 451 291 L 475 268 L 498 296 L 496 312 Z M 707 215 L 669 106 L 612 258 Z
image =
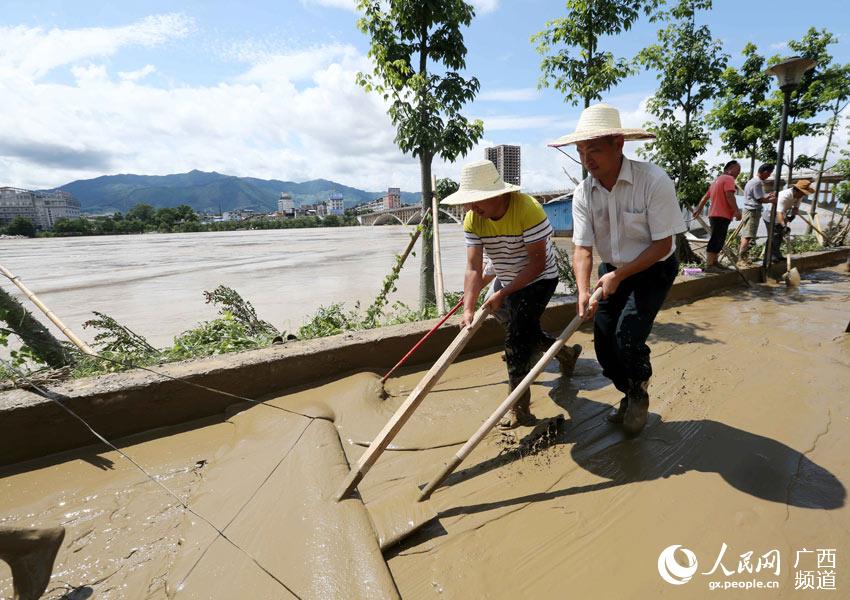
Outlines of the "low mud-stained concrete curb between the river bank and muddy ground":
M 793 259 L 800 271 L 836 265 L 848 259 L 848 248 L 807 253 Z M 785 265 L 773 265 L 781 277 Z M 759 281 L 760 268 L 742 271 Z M 668 303 L 692 301 L 740 285 L 734 273 L 678 280 Z M 558 332 L 575 315 L 575 302 L 558 301 L 543 316 L 543 326 Z M 450 323 L 457 323 L 453 317 Z M 436 321 L 383 327 L 318 340 L 224 356 L 160 365 L 165 376 L 219 389 L 248 398 L 262 398 L 281 390 L 339 377 L 352 371 L 385 372 Z M 415 355 L 433 362 L 454 339 L 455 327 L 438 330 Z M 502 329 L 494 319 L 481 327 L 464 354 L 500 344 Z M 107 439 L 177 425 L 224 412 L 238 402 L 232 396 L 186 385 L 143 370 L 102 375 L 51 386 L 65 404 Z M 0 393 L 0 466 L 91 445 L 91 433 L 54 402 L 37 394 L 12 390 Z

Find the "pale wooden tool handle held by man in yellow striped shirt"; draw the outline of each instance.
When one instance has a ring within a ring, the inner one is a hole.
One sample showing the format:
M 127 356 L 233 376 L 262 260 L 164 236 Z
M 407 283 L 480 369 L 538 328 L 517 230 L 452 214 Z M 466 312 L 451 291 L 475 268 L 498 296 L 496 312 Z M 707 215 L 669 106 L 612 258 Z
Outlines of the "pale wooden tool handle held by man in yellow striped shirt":
M 463 350 L 469 340 L 472 339 L 475 332 L 478 331 L 489 314 L 489 308 L 482 307 L 479 309 L 475 314 L 472 323 L 460 331 L 454 341 L 448 348 L 446 348 L 440 358 L 437 359 L 437 362 L 434 363 L 434 366 L 431 367 L 431 369 L 425 374 L 425 377 L 423 377 L 413 391 L 410 392 L 407 400 L 398 407 L 398 410 L 392 418 L 386 425 L 384 425 L 384 428 L 381 429 L 378 436 L 369 445 L 366 452 L 364 452 L 360 457 L 360 460 L 357 461 L 357 466 L 352 469 L 348 474 L 348 477 L 345 478 L 342 487 L 337 493 L 337 500 L 342 500 L 351 492 L 351 490 L 357 487 L 357 484 L 360 483 L 366 473 L 369 472 L 369 469 L 372 468 L 372 465 L 375 464 L 375 461 L 378 460 L 381 453 L 383 453 L 398 432 L 401 431 L 401 428 L 404 427 L 405 423 L 407 423 L 407 420 L 413 414 L 413 411 L 416 410 L 422 400 L 425 399 L 425 396 L 428 395 L 428 392 L 431 391 L 431 388 L 433 388 L 440 380 L 440 377 L 442 377 L 443 373 L 446 372 L 446 369 L 449 368 L 452 361 L 457 358 L 458 354 L 460 354 L 461 350 Z

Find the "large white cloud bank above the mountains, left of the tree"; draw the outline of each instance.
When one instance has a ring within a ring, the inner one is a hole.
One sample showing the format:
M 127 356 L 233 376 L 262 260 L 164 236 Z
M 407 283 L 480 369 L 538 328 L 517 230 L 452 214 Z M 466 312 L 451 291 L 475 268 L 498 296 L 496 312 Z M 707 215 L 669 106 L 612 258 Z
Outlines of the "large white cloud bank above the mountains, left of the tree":
M 16 69 L 14 77 L 0 77 L 0 130 L 14 132 L 0 139 L 0 185 L 53 187 L 104 174 L 198 168 L 297 181 L 324 177 L 372 190 L 419 187 L 418 161 L 395 147 L 382 100 L 355 83 L 368 63 L 353 46 L 265 48 L 245 53 L 251 62 L 229 81 L 163 88 L 144 80 L 152 65 L 116 74 L 108 62 L 94 62 L 121 44 L 164 39 L 150 31 L 130 36 L 129 28 L 99 30 L 123 41 L 65 60 L 71 83 L 41 79 L 58 58 L 23 68 L 25 61 L 0 49 L 0 64 Z M 51 35 L 79 39 L 87 31 Z

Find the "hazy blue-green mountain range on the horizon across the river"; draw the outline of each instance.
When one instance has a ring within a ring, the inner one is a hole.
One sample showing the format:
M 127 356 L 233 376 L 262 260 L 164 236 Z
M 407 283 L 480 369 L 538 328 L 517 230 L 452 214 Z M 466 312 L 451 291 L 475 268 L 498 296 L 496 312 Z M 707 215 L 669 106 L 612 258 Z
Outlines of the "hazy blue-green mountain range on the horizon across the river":
M 321 202 L 338 192 L 345 206 L 350 207 L 386 193 L 364 191 L 327 179 L 296 183 L 197 170 L 174 175 L 104 175 L 72 181 L 59 189 L 71 193 L 80 201 L 82 211 L 91 214 L 127 212 L 142 203 L 157 208 L 188 204 L 196 212 L 219 213 L 236 208 L 272 212 L 277 210 L 281 192 L 289 192 L 296 205 Z M 401 193 L 405 204 L 419 200 L 418 193 Z

